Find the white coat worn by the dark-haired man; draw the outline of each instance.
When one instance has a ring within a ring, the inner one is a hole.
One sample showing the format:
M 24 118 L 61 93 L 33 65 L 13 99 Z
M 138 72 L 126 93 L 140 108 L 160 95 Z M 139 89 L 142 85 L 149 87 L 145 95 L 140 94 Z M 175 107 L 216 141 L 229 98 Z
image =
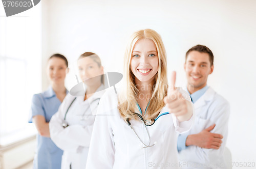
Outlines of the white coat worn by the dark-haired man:
M 222 145 L 219 150 L 188 146 L 179 152 L 183 168 L 226 168 L 223 152 L 227 140 L 229 103 L 218 95 L 211 87 L 194 103 L 195 124 L 186 135 L 197 134 L 209 126 L 216 124 L 212 133 L 222 134 Z

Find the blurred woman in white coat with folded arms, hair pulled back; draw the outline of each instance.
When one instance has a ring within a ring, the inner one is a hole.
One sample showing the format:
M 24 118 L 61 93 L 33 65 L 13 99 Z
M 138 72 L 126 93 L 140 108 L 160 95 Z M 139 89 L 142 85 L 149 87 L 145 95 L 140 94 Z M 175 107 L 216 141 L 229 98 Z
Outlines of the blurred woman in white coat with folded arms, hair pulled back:
M 63 150 L 61 168 L 85 168 L 95 111 L 104 93 L 103 67 L 98 55 L 83 53 L 78 61 L 79 76 L 86 90 L 66 96 L 49 127 L 53 142 Z

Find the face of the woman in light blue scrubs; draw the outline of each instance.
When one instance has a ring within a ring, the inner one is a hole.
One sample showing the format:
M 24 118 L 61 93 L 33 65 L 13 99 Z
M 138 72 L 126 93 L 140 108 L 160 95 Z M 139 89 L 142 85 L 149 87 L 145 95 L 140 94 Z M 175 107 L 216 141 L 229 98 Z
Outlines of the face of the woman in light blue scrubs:
M 47 64 L 47 74 L 51 83 L 55 83 L 55 85 L 65 83 L 66 69 L 67 65 L 63 59 L 51 58 Z

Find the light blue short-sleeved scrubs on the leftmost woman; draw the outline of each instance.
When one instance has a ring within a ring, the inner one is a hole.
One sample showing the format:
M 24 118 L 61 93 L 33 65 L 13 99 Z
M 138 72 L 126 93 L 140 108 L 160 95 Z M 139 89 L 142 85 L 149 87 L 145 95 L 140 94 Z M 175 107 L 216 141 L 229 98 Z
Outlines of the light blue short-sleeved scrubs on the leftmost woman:
M 67 90 L 66 94 L 68 94 Z M 49 87 L 45 92 L 33 95 L 29 123 L 32 123 L 32 118 L 37 115 L 44 116 L 46 122 L 49 123 L 52 116 L 58 111 L 60 104 L 61 101 L 57 98 L 52 87 Z M 62 154 L 63 151 L 52 142 L 51 138 L 37 134 L 37 148 L 33 168 L 60 168 Z

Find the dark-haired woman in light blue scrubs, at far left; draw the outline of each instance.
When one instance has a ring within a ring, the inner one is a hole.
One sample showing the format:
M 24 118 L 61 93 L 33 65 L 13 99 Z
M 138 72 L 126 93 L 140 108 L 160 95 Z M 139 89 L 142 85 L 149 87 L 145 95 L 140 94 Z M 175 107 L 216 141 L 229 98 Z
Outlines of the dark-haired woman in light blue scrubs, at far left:
M 33 122 L 38 131 L 34 169 L 60 168 L 63 151 L 50 138 L 49 121 L 68 94 L 65 88 L 68 72 L 68 60 L 61 54 L 53 54 L 47 63 L 47 75 L 51 85 L 47 91 L 32 97 L 29 123 Z

